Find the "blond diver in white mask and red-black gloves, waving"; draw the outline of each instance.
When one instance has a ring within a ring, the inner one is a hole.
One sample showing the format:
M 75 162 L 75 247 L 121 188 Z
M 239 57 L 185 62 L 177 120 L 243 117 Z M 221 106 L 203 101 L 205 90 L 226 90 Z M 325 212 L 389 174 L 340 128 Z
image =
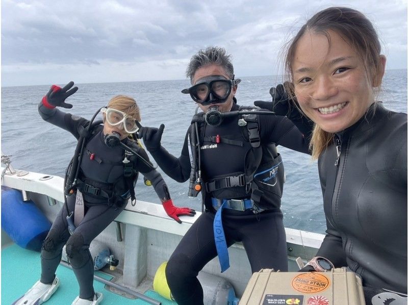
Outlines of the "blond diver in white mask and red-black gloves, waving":
M 135 204 L 134 186 L 139 172 L 151 181 L 170 217 L 181 223 L 179 215 L 195 214 L 189 208 L 173 206 L 162 176 L 151 166 L 145 150 L 129 138 L 140 126 L 136 101 L 124 95 L 113 97 L 107 107 L 100 109 L 103 124 L 88 128 L 93 118 L 89 121 L 56 109 L 58 106 L 72 108 L 65 103 L 65 99 L 78 90 L 72 86 L 73 82 L 64 88 L 52 86 L 38 105 L 45 121 L 69 131 L 84 144 L 78 145 L 83 148 L 76 151 L 67 169 L 65 206 L 42 246 L 40 281 L 15 304 L 41 304 L 56 291 L 60 281 L 55 271 L 65 244 L 80 286 L 79 296 L 72 304 L 100 303 L 103 295 L 93 290 L 93 260 L 89 244 L 120 214 L 130 198 Z M 78 164 L 75 164 L 76 160 L 80 160 Z M 83 202 L 84 210 L 81 211 L 81 205 L 76 202 Z

